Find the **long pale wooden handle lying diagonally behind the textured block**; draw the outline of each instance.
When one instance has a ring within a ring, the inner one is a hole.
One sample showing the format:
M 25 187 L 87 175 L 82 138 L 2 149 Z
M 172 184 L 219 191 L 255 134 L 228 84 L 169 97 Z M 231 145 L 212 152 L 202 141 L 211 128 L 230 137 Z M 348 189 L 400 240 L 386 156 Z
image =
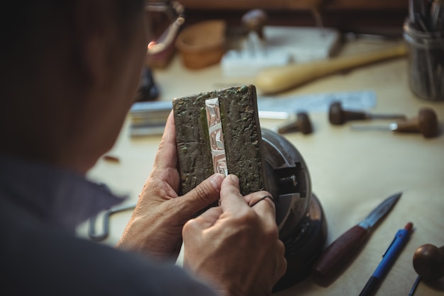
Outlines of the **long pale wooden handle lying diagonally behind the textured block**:
M 255 86 L 261 93 L 277 93 L 344 69 L 351 69 L 392 57 L 401 57 L 406 55 L 406 52 L 406 45 L 401 43 L 395 47 L 360 55 L 271 67 L 257 74 Z

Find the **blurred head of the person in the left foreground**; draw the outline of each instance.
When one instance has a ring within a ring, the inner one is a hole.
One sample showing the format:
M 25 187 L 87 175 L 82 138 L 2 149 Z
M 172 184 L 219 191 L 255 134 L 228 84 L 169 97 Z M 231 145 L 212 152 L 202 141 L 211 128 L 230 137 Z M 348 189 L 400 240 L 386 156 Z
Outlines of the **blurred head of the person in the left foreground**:
M 112 147 L 133 102 L 148 43 L 145 1 L 2 6 L 0 152 L 87 171 Z

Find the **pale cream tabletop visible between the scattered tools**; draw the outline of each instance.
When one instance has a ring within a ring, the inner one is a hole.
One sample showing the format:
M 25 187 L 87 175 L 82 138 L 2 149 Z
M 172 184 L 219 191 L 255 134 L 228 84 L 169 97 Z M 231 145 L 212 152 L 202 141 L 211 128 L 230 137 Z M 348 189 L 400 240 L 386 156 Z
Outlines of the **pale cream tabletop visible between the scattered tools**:
M 348 43 L 341 55 L 386 46 L 367 42 Z M 354 131 L 350 125 L 333 126 L 326 113 L 311 113 L 311 135 L 284 135 L 301 152 L 328 223 L 327 244 L 360 222 L 384 198 L 402 192 L 399 202 L 379 224 L 353 263 L 327 288 L 307 278 L 277 295 L 357 295 L 367 283 L 396 231 L 407 222 L 414 233 L 380 286 L 377 295 L 408 295 L 416 278 L 412 265 L 414 251 L 422 244 L 444 245 L 444 101 L 423 101 L 409 90 L 407 59 L 392 59 L 341 74 L 334 74 L 301 86 L 284 95 L 372 90 L 377 95 L 370 113 L 404 113 L 415 117 L 421 107 L 431 107 L 440 120 L 440 136 L 425 139 L 419 134 L 383 131 Z M 167 69 L 155 71 L 162 100 L 177 96 L 252 84 L 252 79 L 233 79 L 221 75 L 218 65 L 199 71 L 182 67 L 176 57 Z M 261 119 L 262 127 L 273 128 L 283 120 Z M 368 124 L 383 124 L 378 121 Z M 150 173 L 160 136 L 133 139 L 128 120 L 115 147 L 109 152 L 119 162 L 100 160 L 89 176 L 102 181 L 118 194 L 135 203 Z M 111 217 L 106 244 L 116 244 L 130 212 Z M 86 235 L 87 225 L 79 228 Z M 444 280 L 420 283 L 415 295 L 443 295 Z

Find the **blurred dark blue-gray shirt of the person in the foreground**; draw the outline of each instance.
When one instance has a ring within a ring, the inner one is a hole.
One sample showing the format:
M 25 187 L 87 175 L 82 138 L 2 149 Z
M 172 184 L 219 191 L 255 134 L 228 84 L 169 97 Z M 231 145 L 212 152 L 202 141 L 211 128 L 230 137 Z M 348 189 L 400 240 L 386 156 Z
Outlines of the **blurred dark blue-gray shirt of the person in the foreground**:
M 0 156 L 0 295 L 216 295 L 174 263 L 75 237 L 120 202 L 71 171 Z

